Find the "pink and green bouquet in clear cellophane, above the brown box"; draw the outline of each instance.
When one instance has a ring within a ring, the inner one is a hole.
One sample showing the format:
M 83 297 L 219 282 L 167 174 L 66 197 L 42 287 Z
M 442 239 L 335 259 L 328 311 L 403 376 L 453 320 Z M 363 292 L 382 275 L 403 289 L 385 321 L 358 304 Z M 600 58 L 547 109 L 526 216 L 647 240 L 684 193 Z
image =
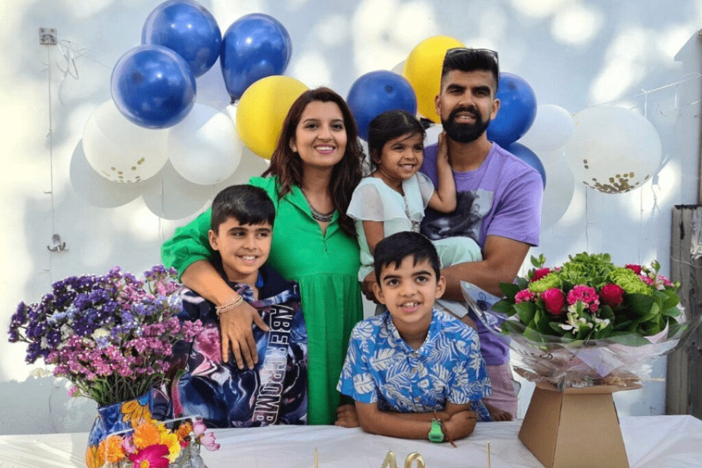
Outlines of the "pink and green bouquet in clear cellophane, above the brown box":
M 679 307 L 680 285 L 658 274 L 658 262 L 618 267 L 607 253 L 571 255 L 554 268 L 543 267 L 543 255 L 531 262 L 526 278 L 501 283 L 505 298 L 478 314 L 511 338 L 515 370 L 531 381 L 630 387 L 694 328 Z

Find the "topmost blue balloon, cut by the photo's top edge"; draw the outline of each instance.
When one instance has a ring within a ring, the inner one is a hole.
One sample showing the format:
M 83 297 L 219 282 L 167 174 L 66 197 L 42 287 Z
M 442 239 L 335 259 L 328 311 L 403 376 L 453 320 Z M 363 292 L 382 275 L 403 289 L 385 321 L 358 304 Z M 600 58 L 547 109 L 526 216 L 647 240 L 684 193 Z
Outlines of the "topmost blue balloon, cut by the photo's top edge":
M 141 30 L 141 44 L 176 51 L 194 76 L 214 65 L 222 47 L 222 32 L 213 15 L 192 0 L 170 0 L 152 11 Z

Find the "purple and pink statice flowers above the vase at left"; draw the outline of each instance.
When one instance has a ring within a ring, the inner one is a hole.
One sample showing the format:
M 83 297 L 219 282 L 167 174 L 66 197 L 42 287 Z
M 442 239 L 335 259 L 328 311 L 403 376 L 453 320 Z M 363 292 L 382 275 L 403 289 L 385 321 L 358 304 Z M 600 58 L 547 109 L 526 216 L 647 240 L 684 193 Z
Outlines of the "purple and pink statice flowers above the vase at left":
M 13 314 L 10 342 L 27 343 L 27 363 L 41 358 L 72 382 L 69 394 L 98 405 L 134 399 L 166 382 L 177 340 L 201 323 L 178 321 L 176 272 L 158 265 L 144 279 L 114 267 L 105 276 L 69 276 Z

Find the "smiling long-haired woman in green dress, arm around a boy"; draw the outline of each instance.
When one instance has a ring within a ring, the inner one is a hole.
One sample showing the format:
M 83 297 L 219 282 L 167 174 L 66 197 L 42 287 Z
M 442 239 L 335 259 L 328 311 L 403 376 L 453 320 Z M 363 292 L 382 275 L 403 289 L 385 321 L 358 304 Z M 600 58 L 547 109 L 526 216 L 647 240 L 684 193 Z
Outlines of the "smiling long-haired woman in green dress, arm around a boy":
M 336 384 L 348 339 L 363 319 L 359 250 L 353 220 L 346 215 L 362 177 L 362 161 L 355 122 L 343 98 L 317 88 L 293 103 L 270 168 L 263 177 L 249 180 L 264 189 L 276 207 L 268 265 L 300 285 L 309 346 L 309 424 L 336 420 Z M 212 267 L 210 215 L 207 210 L 176 229 L 162 246 L 161 258 L 202 297 L 218 306 L 236 305 L 225 307 L 230 310 L 220 315 L 223 360 L 229 359 L 231 349 L 239 368 L 253 368 L 263 358 L 256 355 L 251 325 L 267 327 Z

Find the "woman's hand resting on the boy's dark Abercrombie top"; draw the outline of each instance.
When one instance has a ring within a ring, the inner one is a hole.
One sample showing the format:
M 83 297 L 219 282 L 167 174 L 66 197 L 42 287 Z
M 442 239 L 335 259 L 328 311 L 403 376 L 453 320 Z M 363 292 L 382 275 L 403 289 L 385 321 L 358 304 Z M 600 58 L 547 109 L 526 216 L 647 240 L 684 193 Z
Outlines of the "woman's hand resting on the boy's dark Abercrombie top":
M 244 368 L 244 361 L 249 369 L 258 363 L 258 351 L 256 340 L 253 339 L 251 324 L 256 325 L 261 330 L 268 331 L 269 328 L 261 319 L 258 310 L 249 305 L 248 302 L 241 302 L 229 312 L 220 314 L 220 333 L 222 333 L 222 361 L 229 361 L 229 349 L 232 347 L 234 359 L 237 360 L 239 369 Z

